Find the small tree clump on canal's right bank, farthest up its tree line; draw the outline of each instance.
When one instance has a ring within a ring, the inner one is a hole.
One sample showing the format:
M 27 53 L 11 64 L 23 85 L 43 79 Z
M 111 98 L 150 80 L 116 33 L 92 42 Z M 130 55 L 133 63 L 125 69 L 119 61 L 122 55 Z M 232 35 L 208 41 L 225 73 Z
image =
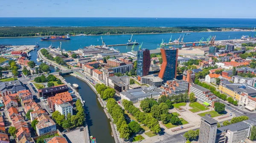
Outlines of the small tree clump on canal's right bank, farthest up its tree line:
M 103 100 L 108 100 L 109 98 L 113 98 L 116 94 L 116 90 L 113 88 L 107 87 L 105 84 L 96 84 L 95 89 L 97 93 L 99 93 L 100 98 Z

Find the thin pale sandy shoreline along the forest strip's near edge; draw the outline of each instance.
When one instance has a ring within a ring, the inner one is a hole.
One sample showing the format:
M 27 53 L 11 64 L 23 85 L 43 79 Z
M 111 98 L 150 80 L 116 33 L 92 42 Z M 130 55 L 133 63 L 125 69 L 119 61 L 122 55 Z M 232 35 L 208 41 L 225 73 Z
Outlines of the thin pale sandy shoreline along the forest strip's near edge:
M 250 31 L 199 31 L 199 32 L 189 31 L 189 33 L 203 33 L 203 32 L 250 32 Z M 169 33 L 139 33 L 139 34 L 134 34 L 134 35 L 142 35 L 142 34 L 172 34 L 172 33 L 184 33 L 184 34 L 186 34 L 187 31 L 185 31 L 185 32 L 169 32 Z M 91 35 L 91 34 L 89 34 L 89 35 L 72 35 L 72 36 L 102 36 L 102 35 L 104 36 L 104 35 L 131 35 L 131 34 L 99 34 L 99 35 Z M 45 37 L 45 36 L 19 36 L 19 37 L 0 37 L 0 38 L 29 38 L 29 37 Z

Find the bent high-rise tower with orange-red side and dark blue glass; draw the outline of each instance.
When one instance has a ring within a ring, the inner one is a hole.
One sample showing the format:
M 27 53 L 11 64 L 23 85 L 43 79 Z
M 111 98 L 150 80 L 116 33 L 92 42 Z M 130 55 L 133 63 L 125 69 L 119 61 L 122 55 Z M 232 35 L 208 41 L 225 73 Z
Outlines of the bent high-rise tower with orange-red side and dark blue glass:
M 160 51 L 163 58 L 163 64 L 160 69 L 159 77 L 163 79 L 164 82 L 176 79 L 178 49 L 161 48 Z

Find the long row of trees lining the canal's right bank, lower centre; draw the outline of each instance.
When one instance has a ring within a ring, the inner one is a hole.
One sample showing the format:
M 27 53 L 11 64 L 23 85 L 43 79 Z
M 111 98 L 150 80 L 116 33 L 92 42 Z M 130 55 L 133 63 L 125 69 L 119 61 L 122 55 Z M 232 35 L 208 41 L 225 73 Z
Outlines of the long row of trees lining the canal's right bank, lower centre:
M 113 118 L 113 123 L 116 124 L 116 128 L 120 133 L 121 138 L 128 139 L 131 134 L 131 131 L 137 132 L 137 125 L 135 125 L 134 123 L 130 123 L 130 125 L 128 125 L 126 123 L 124 111 L 116 103 L 114 98 L 108 99 L 107 108 L 108 113 Z

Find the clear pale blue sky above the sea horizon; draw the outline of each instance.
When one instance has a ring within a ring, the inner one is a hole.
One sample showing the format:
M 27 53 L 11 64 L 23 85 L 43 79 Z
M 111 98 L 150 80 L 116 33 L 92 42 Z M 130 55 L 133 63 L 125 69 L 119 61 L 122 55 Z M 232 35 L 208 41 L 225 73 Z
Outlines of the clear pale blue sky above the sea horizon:
M 256 18 L 256 0 L 0 0 L 0 17 Z

